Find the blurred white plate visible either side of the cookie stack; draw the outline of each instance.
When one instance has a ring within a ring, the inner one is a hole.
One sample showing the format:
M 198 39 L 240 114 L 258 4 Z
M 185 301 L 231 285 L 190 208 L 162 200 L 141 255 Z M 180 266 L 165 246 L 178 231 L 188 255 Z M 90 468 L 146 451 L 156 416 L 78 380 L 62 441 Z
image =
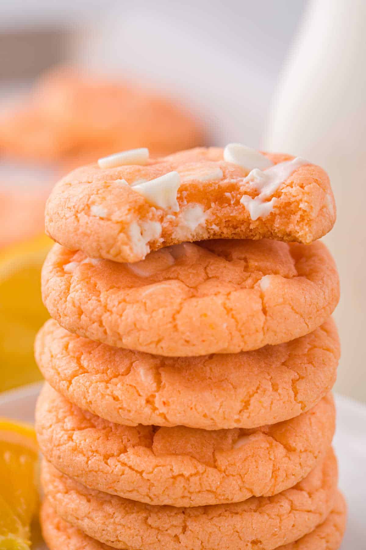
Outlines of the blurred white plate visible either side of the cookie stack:
M 42 384 L 31 384 L 0 396 L 0 416 L 33 421 Z M 339 459 L 339 485 L 348 502 L 348 524 L 341 550 L 365 550 L 366 406 L 336 395 L 337 431 L 334 447 Z M 45 550 L 38 547 L 35 550 Z

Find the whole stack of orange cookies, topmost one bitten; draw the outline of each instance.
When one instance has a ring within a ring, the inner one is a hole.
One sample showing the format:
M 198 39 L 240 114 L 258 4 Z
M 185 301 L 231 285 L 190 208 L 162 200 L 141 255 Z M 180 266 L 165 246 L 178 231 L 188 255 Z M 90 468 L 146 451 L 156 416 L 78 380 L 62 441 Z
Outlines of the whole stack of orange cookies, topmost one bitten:
M 36 339 L 50 550 L 335 550 L 326 173 L 125 151 L 54 188 Z

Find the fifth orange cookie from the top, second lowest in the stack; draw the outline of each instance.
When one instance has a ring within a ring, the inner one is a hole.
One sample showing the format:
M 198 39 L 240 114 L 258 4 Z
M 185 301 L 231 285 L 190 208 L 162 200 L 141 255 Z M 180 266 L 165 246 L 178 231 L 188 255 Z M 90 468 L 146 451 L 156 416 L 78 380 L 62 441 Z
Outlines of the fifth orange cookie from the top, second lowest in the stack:
M 269 498 L 198 508 L 151 506 L 91 491 L 44 465 L 43 490 L 58 516 L 116 548 L 272 550 L 322 524 L 336 503 L 333 450 L 306 478 Z

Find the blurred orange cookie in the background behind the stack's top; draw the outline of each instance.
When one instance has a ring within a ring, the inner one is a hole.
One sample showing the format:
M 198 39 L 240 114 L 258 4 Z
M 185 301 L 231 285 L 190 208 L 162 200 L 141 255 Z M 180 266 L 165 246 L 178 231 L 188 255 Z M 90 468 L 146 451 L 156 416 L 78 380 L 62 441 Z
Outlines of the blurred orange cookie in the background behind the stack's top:
M 0 151 L 16 158 L 60 160 L 140 144 L 167 154 L 203 141 L 198 120 L 178 103 L 71 67 L 50 71 L 28 98 L 0 113 Z

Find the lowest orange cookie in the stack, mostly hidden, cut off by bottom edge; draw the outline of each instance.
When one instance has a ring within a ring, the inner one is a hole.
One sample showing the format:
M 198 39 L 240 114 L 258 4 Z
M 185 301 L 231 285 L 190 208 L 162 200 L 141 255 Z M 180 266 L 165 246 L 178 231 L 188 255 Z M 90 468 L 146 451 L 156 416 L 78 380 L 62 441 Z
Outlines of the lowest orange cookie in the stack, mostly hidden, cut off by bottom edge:
M 80 529 L 77 529 L 70 523 L 59 518 L 48 499 L 46 499 L 42 505 L 41 524 L 44 540 L 50 550 L 65 550 L 65 548 L 67 548 L 67 550 L 111 550 L 112 548 L 111 546 L 107 546 L 89 537 Z M 106 527 L 108 528 L 108 525 L 106 525 Z M 346 503 L 341 493 L 337 493 L 333 510 L 322 524 L 318 525 L 314 531 L 311 531 L 308 535 L 301 537 L 299 540 L 277 548 L 278 550 L 338 550 L 345 529 Z M 109 541 L 109 544 L 111 544 L 111 542 L 112 541 Z M 216 548 L 219 548 L 219 550 L 227 550 L 228 546 L 224 546 L 224 544 L 224 541 L 222 541 L 221 546 L 216 546 Z M 175 546 L 155 547 L 159 548 L 159 550 L 164 550 L 164 548 L 182 548 L 177 546 L 177 544 Z M 125 545 L 124 548 L 136 549 L 137 547 L 136 545 Z M 148 544 L 146 548 L 150 549 L 153 547 L 151 544 Z M 199 548 L 199 546 L 197 546 L 197 548 Z M 212 550 L 213 547 L 211 545 L 204 548 L 210 548 L 210 550 Z M 238 550 L 247 550 L 248 546 L 245 542 L 237 541 L 235 548 Z

